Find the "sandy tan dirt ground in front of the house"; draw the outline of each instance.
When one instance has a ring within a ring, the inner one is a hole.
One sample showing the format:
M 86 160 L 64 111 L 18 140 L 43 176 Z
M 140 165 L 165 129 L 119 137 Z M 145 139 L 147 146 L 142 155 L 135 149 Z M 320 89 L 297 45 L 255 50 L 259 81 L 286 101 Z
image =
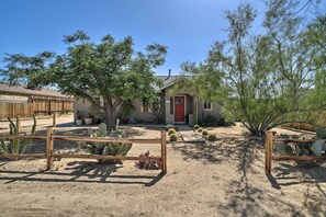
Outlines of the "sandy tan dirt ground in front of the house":
M 159 137 L 155 127 L 128 127 L 131 137 Z M 168 172 L 134 161 L 105 165 L 63 159 L 0 161 L 0 216 L 325 216 L 326 168 L 273 164 L 263 169 L 263 141 L 241 127 L 211 129 L 212 144 L 169 144 Z M 232 134 L 225 134 L 231 130 Z M 58 145 L 59 146 L 59 145 Z M 134 146 L 128 156 L 159 152 Z

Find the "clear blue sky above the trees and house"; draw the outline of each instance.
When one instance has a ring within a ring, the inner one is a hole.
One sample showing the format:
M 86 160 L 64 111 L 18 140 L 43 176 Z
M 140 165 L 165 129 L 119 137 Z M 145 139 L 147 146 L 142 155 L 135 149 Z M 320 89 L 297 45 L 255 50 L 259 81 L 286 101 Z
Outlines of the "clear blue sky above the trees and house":
M 154 42 L 166 45 L 166 64 L 155 71 L 167 75 L 170 68 L 177 75 L 181 62 L 203 60 L 212 44 L 225 38 L 225 11 L 240 2 L 263 15 L 259 0 L 0 0 L 0 59 L 4 53 L 63 54 L 63 36 L 83 30 L 94 42 L 105 34 L 131 35 L 136 50 Z

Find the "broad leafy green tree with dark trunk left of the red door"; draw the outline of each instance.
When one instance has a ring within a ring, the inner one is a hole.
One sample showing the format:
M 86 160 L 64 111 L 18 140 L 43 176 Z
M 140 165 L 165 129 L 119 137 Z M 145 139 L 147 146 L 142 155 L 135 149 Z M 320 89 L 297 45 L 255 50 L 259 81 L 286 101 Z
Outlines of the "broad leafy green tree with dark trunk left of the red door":
M 110 127 L 123 102 L 156 98 L 154 85 L 162 83 L 153 69 L 165 62 L 166 46 L 151 44 L 140 53 L 134 49 L 131 36 L 116 42 L 105 35 L 100 42 L 92 42 L 83 31 L 65 36 L 64 43 L 67 49 L 63 55 L 8 55 L 3 75 L 11 84 L 22 80 L 37 85 L 56 84 L 63 93 L 86 99 L 105 112 Z M 94 95 L 103 99 L 103 106 Z

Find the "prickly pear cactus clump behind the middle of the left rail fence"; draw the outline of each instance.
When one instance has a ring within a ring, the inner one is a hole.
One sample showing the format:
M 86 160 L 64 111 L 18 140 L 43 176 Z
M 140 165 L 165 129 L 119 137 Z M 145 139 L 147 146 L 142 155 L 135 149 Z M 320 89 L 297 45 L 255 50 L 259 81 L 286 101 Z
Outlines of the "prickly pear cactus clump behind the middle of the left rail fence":
M 106 125 L 104 123 L 99 125 L 98 130 L 89 128 L 89 135 L 91 138 L 124 138 L 126 137 L 126 132 L 113 130 L 108 136 Z M 121 144 L 121 142 L 101 142 L 101 141 L 87 141 L 82 142 L 81 149 L 87 149 L 92 155 L 102 156 L 126 156 L 128 150 L 132 148 L 132 144 Z M 98 160 L 100 162 L 108 163 L 119 163 L 121 160 Z

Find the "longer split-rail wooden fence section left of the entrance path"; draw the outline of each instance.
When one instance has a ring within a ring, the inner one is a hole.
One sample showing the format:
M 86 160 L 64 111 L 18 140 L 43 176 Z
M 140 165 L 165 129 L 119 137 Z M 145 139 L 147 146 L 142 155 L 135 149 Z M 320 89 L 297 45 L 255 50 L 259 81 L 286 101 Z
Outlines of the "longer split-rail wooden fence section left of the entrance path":
M 159 161 L 161 162 L 162 172 L 167 172 L 167 140 L 166 132 L 161 132 L 160 139 L 112 139 L 112 138 L 90 138 L 75 136 L 58 136 L 54 135 L 54 127 L 48 127 L 46 136 L 0 136 L 0 139 L 43 139 L 46 140 L 46 153 L 25 153 L 25 155 L 0 155 L 2 158 L 45 158 L 47 159 L 47 169 L 53 167 L 55 158 L 82 158 L 82 159 L 101 159 L 101 160 L 143 160 L 143 161 Z M 75 153 L 54 153 L 54 140 L 70 140 L 70 141 L 98 141 L 98 142 L 121 142 L 121 144 L 160 144 L 160 157 L 130 157 L 130 156 L 101 156 L 101 155 L 75 155 Z

